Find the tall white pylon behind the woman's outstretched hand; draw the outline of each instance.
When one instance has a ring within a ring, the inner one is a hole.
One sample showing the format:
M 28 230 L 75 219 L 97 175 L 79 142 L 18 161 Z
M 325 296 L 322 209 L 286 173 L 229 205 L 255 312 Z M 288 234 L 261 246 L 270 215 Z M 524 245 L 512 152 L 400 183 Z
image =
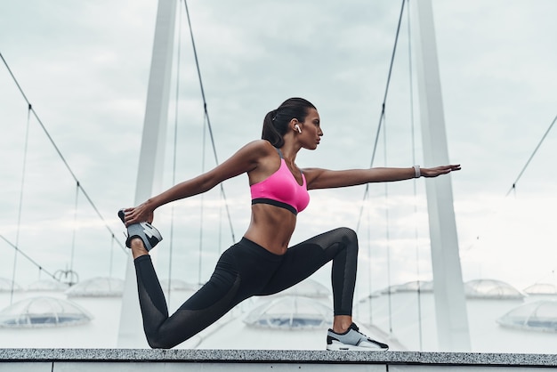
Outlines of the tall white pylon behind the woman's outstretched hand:
M 431 0 L 412 3 L 416 20 L 416 75 L 424 162 L 449 164 L 445 114 Z M 432 245 L 433 290 L 439 348 L 444 352 L 471 349 L 464 284 L 456 236 L 450 174 L 425 180 Z

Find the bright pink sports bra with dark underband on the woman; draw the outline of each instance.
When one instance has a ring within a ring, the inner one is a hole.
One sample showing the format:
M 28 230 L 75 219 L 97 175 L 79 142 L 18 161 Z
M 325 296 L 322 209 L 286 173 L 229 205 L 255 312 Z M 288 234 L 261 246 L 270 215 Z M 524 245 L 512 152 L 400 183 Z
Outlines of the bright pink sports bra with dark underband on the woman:
M 251 185 L 252 205 L 270 204 L 271 206 L 285 208 L 293 214 L 298 214 L 310 203 L 310 194 L 305 183 L 305 176 L 302 174 L 303 184 L 300 186 L 294 174 L 288 169 L 287 163 L 282 157 L 282 152 L 279 149 L 277 150 L 280 156 L 280 167 L 277 172 L 270 174 L 262 182 Z

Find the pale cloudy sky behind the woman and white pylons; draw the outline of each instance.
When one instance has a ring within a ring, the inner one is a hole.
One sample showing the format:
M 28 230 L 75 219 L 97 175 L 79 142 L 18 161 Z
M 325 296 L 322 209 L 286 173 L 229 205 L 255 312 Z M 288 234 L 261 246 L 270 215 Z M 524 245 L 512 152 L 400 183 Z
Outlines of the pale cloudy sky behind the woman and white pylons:
M 47 271 L 73 269 L 82 279 L 124 276 L 126 255 L 107 226 L 123 241 L 116 211 L 134 200 L 156 3 L 0 2 L 0 53 L 106 222 L 77 192 L 36 118 L 28 120 L 27 103 L 0 65 L 0 233 Z M 319 150 L 300 154 L 298 165 L 369 166 L 400 2 L 195 0 L 189 7 L 221 161 L 259 137 L 270 109 L 302 96 L 318 107 L 325 135 Z M 180 181 L 214 166 L 181 9 L 165 188 L 173 177 Z M 501 279 L 520 289 L 555 282 L 557 129 L 516 192 L 505 194 L 557 115 L 557 3 L 433 1 L 433 12 L 449 157 L 463 166 L 451 177 L 464 280 Z M 408 25 L 405 12 L 374 166 L 435 166 L 421 160 L 417 118 L 411 135 L 416 76 L 409 72 Z M 249 222 L 246 185 L 246 176 L 224 183 L 236 239 Z M 416 182 L 416 195 L 408 181 L 375 184 L 370 197 L 363 196 L 363 187 L 313 192 L 293 242 L 360 222 L 362 290 L 369 282 L 375 290 L 432 279 L 424 180 Z M 165 236 L 157 257 L 161 277 L 168 275 L 172 247 L 172 276 L 205 280 L 232 241 L 218 190 L 174 209 L 164 206 L 156 219 Z M 14 260 L 4 240 L 0 252 L 3 277 L 12 277 L 15 264 L 17 282 L 39 278 L 21 256 Z

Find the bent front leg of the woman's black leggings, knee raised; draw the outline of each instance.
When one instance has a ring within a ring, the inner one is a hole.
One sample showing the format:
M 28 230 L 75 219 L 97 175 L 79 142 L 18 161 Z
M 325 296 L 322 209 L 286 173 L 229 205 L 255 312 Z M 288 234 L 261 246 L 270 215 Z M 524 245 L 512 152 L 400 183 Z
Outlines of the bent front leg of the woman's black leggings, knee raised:
M 282 264 L 258 295 L 272 295 L 292 287 L 331 260 L 335 315 L 351 315 L 358 267 L 358 237 L 349 228 L 330 230 L 288 248 Z

